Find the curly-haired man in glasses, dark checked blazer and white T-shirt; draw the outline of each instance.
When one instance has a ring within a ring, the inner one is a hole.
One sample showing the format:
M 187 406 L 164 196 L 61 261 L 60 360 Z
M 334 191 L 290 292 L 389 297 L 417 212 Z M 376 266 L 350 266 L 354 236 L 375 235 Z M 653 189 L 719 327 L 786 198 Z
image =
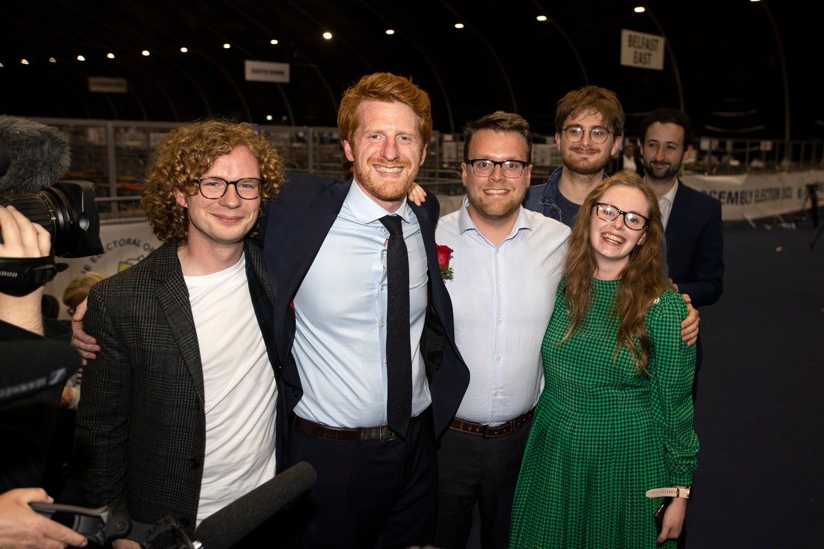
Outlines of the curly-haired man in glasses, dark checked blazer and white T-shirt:
M 92 505 L 143 523 L 171 515 L 191 534 L 282 468 L 274 295 L 248 239 L 282 181 L 279 157 L 246 123 L 177 128 L 157 150 L 141 203 L 164 244 L 88 298 L 100 347 L 77 444 Z

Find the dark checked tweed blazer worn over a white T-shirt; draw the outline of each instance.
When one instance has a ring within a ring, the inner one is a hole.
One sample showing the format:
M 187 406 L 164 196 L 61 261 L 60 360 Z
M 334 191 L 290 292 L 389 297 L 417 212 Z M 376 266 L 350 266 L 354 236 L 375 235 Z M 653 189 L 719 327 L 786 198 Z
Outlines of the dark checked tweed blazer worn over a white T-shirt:
M 263 253 L 249 240 L 245 252 L 255 314 L 274 365 L 274 296 Z M 177 246 L 163 244 L 92 287 L 84 328 L 101 345 L 83 370 L 77 410 L 89 503 L 125 509 L 144 523 L 171 515 L 192 532 L 206 447 L 204 379 Z M 275 379 L 282 395 L 277 371 Z M 280 468 L 282 407 L 277 416 Z

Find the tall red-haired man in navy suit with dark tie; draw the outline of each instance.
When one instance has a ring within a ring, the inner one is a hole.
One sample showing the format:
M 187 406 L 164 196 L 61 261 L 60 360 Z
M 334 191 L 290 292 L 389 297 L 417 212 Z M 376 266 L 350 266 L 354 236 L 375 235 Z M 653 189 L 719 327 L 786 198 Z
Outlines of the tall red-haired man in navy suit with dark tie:
M 432 135 L 428 95 L 407 78 L 363 77 L 344 93 L 338 126 L 353 180 L 293 174 L 267 204 L 261 231 L 292 412 L 288 462 L 307 461 L 318 477 L 304 542 L 423 546 L 434 531 L 436 440 L 469 380 L 438 268 L 438 202 L 430 197 L 418 207 L 406 199 Z M 389 216 L 400 217 L 409 258 L 410 318 L 402 323 L 412 387 L 402 403 L 411 407 L 400 427 L 389 425 L 387 411 L 396 403 L 386 350 L 390 232 L 381 221 Z M 437 319 L 447 336 L 433 351 L 437 371 L 424 366 L 424 319 Z

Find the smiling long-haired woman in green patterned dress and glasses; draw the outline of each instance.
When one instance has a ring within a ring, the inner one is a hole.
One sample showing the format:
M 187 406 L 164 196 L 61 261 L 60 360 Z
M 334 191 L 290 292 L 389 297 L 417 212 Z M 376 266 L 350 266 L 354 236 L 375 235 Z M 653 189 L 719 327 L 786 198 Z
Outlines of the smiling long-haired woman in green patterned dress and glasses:
M 662 232 L 635 174 L 605 179 L 578 212 L 541 348 L 513 549 L 675 547 L 697 465 L 695 347 L 681 342 L 686 305 L 667 284 Z M 646 492 L 676 486 L 657 533 L 664 498 Z

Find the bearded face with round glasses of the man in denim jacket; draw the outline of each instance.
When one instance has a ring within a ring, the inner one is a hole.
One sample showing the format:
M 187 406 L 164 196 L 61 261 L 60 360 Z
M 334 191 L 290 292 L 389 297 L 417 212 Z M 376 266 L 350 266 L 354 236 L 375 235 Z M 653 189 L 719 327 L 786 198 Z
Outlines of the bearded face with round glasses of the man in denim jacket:
M 564 128 L 569 126 L 581 126 L 585 130 L 591 130 L 596 126 L 613 130 L 606 122 L 601 113 L 597 110 L 584 110 L 577 116 L 568 116 L 564 120 Z M 584 132 L 581 141 L 573 143 L 564 135 L 564 132 L 555 133 L 555 145 L 561 151 L 561 161 L 567 170 L 577 174 L 600 174 L 610 158 L 618 151 L 620 139 L 615 133 L 610 133 L 606 141 L 600 144 L 593 143 L 589 132 Z

